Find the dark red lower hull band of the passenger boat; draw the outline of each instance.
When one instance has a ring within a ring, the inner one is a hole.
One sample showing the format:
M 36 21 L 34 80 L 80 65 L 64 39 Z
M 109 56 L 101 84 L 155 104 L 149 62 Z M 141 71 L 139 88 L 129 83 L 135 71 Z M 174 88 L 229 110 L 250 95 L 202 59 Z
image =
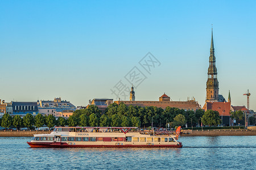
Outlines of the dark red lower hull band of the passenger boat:
M 144 147 L 144 148 L 151 148 L 151 147 L 175 147 L 181 148 L 182 144 L 180 145 L 68 145 L 67 143 L 63 142 L 56 142 L 56 143 L 39 143 L 39 142 L 27 142 L 30 147 Z

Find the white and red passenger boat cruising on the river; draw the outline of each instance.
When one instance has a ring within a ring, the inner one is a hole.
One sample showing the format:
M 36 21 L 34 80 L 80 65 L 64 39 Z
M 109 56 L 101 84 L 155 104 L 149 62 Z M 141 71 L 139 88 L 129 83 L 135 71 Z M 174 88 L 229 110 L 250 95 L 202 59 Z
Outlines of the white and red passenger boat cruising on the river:
M 35 134 L 30 147 L 182 147 L 174 131 L 138 131 L 134 127 L 56 127 Z

